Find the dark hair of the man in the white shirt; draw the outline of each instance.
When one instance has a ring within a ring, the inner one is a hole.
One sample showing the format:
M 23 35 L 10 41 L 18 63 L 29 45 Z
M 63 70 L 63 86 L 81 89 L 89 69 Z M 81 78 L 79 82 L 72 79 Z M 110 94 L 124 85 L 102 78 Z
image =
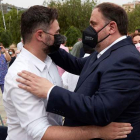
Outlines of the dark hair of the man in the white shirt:
M 32 6 L 21 16 L 21 36 L 23 43 L 30 41 L 37 29 L 48 30 L 50 24 L 58 18 L 57 10 L 44 6 Z

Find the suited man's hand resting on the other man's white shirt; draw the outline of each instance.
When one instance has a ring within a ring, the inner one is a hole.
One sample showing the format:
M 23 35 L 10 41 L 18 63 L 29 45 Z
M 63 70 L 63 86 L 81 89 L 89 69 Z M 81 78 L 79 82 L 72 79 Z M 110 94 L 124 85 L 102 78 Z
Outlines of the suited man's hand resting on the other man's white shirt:
M 47 98 L 49 89 L 54 86 L 47 79 L 25 70 L 18 73 L 18 76 L 21 77 L 16 79 L 17 82 L 21 83 L 18 87 L 27 90 L 40 98 Z

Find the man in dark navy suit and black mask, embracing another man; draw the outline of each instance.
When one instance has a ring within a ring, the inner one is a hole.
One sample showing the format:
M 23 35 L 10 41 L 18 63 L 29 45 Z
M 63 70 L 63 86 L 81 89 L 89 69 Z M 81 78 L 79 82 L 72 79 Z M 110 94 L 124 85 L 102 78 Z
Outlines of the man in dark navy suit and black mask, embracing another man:
M 118 5 L 97 5 L 83 43 L 95 46 L 87 58 L 75 58 L 59 49 L 53 61 L 68 72 L 80 75 L 74 92 L 54 86 L 34 74 L 24 72 L 19 87 L 48 98 L 46 110 L 65 116 L 65 125 L 104 126 L 112 121 L 133 126 L 127 140 L 140 140 L 140 57 L 127 37 L 127 14 Z M 28 75 L 28 76 L 27 76 Z M 29 80 L 29 81 L 28 81 Z

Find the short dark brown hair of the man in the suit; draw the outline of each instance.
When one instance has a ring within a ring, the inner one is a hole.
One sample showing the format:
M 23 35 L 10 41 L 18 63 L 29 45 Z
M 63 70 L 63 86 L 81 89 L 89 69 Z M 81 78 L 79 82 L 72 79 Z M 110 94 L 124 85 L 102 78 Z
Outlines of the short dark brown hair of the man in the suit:
M 114 3 L 104 2 L 97 5 L 105 20 L 115 21 L 121 35 L 127 35 L 128 17 L 125 10 Z

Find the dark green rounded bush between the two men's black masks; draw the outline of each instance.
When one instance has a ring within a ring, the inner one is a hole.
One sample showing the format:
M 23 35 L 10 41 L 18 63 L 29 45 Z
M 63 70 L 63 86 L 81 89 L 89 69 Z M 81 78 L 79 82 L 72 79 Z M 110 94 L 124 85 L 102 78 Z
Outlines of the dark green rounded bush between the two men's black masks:
M 71 26 L 65 35 L 67 36 L 67 46 L 73 46 L 77 39 L 82 36 L 81 31 L 74 26 Z

